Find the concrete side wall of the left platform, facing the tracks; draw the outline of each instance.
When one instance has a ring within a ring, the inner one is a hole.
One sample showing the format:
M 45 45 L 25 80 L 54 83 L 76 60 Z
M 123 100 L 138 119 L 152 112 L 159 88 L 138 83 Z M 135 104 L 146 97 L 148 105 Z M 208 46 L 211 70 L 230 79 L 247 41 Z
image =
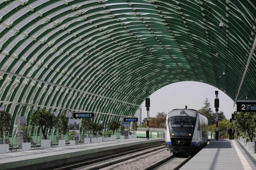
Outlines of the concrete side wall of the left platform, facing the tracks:
M 126 144 L 120 144 L 116 146 L 99 147 L 99 148 L 86 150 L 86 153 L 85 151 L 78 151 L 78 152 L 52 155 L 52 156 L 46 156 L 41 158 L 35 158 L 35 159 L 16 161 L 16 162 L 1 163 L 0 169 L 2 170 L 5 170 L 5 169 L 18 170 L 19 169 L 20 170 L 21 167 L 24 167 L 25 169 L 29 169 L 29 170 L 43 169 L 43 168 L 53 167 L 56 165 L 61 165 L 63 163 L 76 162 L 76 161 L 81 161 L 88 158 L 94 158 L 94 157 L 99 157 L 103 155 L 117 153 L 117 152 L 123 151 L 121 150 L 122 148 L 127 149 L 127 147 L 129 147 L 129 149 L 133 149 L 133 147 L 136 147 L 137 145 L 149 146 L 145 144 L 150 144 L 150 143 L 152 145 L 157 143 L 164 144 L 165 139 L 151 139 L 147 141 L 126 143 Z M 106 151 L 109 151 L 109 152 L 106 153 Z M 40 165 L 44 165 L 43 168 L 38 168 L 38 166 Z

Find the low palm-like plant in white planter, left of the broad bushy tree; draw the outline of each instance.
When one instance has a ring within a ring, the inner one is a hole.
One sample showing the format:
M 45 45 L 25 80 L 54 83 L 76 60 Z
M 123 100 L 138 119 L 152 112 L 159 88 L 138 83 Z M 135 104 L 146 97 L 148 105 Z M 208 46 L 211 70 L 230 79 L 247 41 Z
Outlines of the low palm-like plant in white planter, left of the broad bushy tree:
M 31 150 L 31 141 L 32 138 L 30 136 L 31 126 L 21 126 L 19 127 L 19 137 L 21 136 L 22 142 L 22 150 Z

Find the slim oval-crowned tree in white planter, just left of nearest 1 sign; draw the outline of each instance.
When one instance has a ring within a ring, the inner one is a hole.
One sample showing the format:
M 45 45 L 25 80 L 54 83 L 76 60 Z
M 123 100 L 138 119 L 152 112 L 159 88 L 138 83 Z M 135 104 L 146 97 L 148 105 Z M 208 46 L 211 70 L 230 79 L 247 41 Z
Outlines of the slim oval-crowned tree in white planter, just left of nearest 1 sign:
M 59 132 L 59 135 L 61 135 L 61 140 L 58 140 L 58 144 L 59 146 L 65 146 L 66 141 L 63 138 L 63 135 L 68 133 L 68 120 L 65 114 L 61 114 L 57 119 L 56 128 Z

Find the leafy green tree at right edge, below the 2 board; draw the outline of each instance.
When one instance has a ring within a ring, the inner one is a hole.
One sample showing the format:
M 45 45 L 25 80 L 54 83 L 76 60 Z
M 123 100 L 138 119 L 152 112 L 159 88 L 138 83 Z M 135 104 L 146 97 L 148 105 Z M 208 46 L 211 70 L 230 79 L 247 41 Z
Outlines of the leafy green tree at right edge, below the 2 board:
M 252 142 L 253 134 L 256 127 L 256 113 L 255 112 L 234 112 L 236 120 L 234 124 L 240 131 L 246 131 L 250 141 Z

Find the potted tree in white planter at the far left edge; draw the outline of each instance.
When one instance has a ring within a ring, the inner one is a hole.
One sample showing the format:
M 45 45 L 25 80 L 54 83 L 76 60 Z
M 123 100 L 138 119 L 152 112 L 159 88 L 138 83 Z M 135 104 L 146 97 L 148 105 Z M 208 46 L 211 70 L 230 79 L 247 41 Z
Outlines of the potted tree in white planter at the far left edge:
M 3 143 L 0 143 L 0 153 L 9 152 L 9 145 L 4 144 L 4 138 L 8 137 L 9 131 L 11 129 L 12 115 L 5 111 L 0 111 L 0 127 L 1 127 L 1 137 L 3 138 Z

